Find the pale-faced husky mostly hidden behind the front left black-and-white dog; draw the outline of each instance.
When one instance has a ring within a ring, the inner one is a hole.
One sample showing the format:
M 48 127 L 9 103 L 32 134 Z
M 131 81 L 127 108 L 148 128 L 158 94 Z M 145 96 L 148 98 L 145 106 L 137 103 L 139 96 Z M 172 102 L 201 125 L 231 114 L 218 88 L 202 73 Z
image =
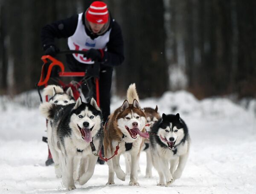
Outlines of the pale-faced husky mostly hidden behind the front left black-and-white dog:
M 44 88 L 43 95 L 50 96 L 49 102 L 55 103 L 58 105 L 67 105 L 67 104 L 76 102 L 74 99 L 71 87 L 69 87 L 67 91 L 64 92 L 64 90 L 60 86 L 49 85 Z M 47 142 L 48 142 L 49 150 L 51 151 L 51 154 L 52 154 L 56 177 L 60 178 L 61 166 L 60 166 L 58 151 L 53 146 L 55 145 L 55 142 L 54 142 L 54 138 L 52 137 L 51 125 L 52 125 L 52 121 L 51 120 L 47 121 L 47 139 L 48 139 Z

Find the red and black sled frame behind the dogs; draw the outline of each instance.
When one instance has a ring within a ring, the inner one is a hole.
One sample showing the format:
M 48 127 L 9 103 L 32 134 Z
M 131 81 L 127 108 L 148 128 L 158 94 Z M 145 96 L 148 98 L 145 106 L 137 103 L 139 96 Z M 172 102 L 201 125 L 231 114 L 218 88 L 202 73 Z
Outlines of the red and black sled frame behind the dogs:
M 79 51 L 79 50 L 64 50 L 61 52 L 58 52 L 59 54 L 83 54 L 86 55 L 86 51 Z M 39 82 L 37 83 L 38 88 L 38 94 L 40 97 L 40 101 L 43 102 L 43 98 L 40 93 L 41 87 L 47 87 L 49 80 L 52 80 L 56 84 L 60 85 L 64 91 L 66 91 L 69 87 L 71 87 L 73 91 L 73 96 L 75 100 L 77 100 L 80 96 L 79 88 L 83 83 L 85 83 L 87 80 L 94 78 L 95 81 L 95 93 L 96 93 L 96 102 L 97 105 L 100 107 L 99 104 L 99 63 L 95 62 L 94 64 L 88 64 L 90 66 L 89 69 L 87 69 L 85 72 L 65 72 L 64 64 L 61 61 L 58 61 L 56 58 L 50 56 L 50 55 L 43 55 L 41 57 L 41 60 L 44 62 L 42 69 L 41 69 L 41 77 Z M 58 69 L 58 72 L 55 72 L 55 75 L 53 75 L 53 69 L 56 70 L 56 67 Z M 80 77 L 80 81 L 71 81 L 70 83 L 66 84 L 64 81 L 61 80 L 61 77 Z M 87 84 L 87 87 L 88 84 Z M 88 88 L 88 90 L 91 90 L 91 88 Z M 48 96 L 45 96 L 45 101 L 48 101 Z M 47 126 L 47 120 L 46 120 L 46 126 Z M 47 142 L 47 137 L 43 137 L 43 142 Z M 48 146 L 48 157 L 45 162 L 45 165 L 51 165 L 53 162 L 52 154 L 49 150 Z

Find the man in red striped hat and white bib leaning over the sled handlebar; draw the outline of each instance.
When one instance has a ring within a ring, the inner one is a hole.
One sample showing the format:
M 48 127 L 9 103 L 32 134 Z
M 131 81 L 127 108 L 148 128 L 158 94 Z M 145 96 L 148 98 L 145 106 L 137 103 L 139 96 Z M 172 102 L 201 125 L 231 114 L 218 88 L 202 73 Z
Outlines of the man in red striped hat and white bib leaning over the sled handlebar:
M 85 56 L 67 55 L 67 63 L 71 71 L 84 72 L 90 68 L 89 64 L 94 64 L 94 61 L 100 63 L 100 108 L 106 121 L 110 114 L 113 67 L 124 61 L 123 39 L 119 24 L 112 19 L 104 2 L 94 1 L 85 12 L 42 28 L 41 41 L 45 55 L 54 57 L 58 53 L 55 38 L 68 38 L 67 44 L 70 50 L 87 51 Z M 87 94 L 84 93 L 84 96 Z M 93 96 L 95 98 L 95 93 Z

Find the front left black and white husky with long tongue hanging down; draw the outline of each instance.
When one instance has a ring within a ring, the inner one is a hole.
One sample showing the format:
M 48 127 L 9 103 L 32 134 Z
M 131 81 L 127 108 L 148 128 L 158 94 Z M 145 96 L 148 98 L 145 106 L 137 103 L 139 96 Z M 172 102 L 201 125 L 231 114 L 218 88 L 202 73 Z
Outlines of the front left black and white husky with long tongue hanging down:
M 81 159 L 79 183 L 85 184 L 93 175 L 97 158 L 92 153 L 90 143 L 99 149 L 102 142 L 102 112 L 94 98 L 84 103 L 78 98 L 76 103 L 65 106 L 44 102 L 41 113 L 52 120 L 54 147 L 61 159 L 62 181 L 69 191 L 76 188 L 74 183 L 74 163 Z M 85 170 L 85 162 L 87 169 Z

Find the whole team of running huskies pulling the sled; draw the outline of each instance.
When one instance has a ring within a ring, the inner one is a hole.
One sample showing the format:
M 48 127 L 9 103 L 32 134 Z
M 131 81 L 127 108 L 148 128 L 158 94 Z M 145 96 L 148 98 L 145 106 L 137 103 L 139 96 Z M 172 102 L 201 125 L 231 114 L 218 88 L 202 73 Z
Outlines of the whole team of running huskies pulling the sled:
M 97 156 L 92 153 L 104 146 L 109 172 L 107 184 L 115 184 L 113 175 L 125 180 L 119 165 L 120 155 L 125 156 L 129 185 L 139 185 L 140 152 L 147 153 L 146 177 L 152 177 L 152 165 L 159 174 L 157 185 L 169 186 L 180 178 L 189 154 L 188 128 L 179 113 L 159 115 L 158 107 L 141 108 L 135 84 L 127 90 L 127 100 L 103 123 L 102 112 L 94 98 L 89 103 L 74 100 L 72 90 L 49 85 L 44 95 L 51 96 L 39 109 L 48 120 L 47 137 L 55 164 L 55 174 L 62 177 L 68 190 L 75 182 L 84 185 L 97 167 Z M 119 145 L 117 155 L 116 145 Z

